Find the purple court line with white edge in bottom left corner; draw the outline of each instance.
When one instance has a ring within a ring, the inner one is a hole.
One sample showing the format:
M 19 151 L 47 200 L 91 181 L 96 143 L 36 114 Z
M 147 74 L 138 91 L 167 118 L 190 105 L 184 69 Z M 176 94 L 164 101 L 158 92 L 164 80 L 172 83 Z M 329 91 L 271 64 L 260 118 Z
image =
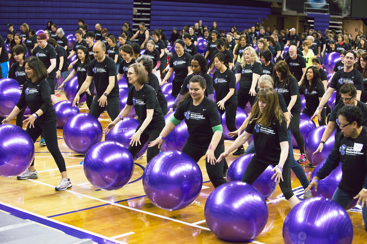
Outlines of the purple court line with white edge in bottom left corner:
M 60 222 L 54 219 L 49 219 L 42 215 L 34 214 L 29 211 L 20 209 L 18 207 L 11 206 L 6 203 L 0 202 L 0 209 L 10 213 L 11 215 L 15 217 L 32 220 L 34 222 L 49 226 L 51 228 L 61 230 L 62 232 L 70 236 L 74 236 L 80 239 L 89 238 L 92 241 L 96 243 L 101 243 L 101 244 L 122 244 L 124 243 L 122 241 L 114 241 L 113 239 L 109 240 L 109 237 L 102 236 L 100 234 L 93 233 L 88 230 L 83 230 L 81 228 L 78 228 L 78 227 L 75 227 L 69 224 L 65 224 L 63 222 Z

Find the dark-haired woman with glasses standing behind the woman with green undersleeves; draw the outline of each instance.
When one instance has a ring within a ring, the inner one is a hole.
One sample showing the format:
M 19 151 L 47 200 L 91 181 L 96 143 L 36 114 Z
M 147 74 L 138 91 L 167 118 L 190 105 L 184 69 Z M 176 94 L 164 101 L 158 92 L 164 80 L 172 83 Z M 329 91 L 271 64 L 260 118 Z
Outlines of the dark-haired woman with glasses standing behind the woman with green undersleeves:
M 175 78 L 172 81 L 172 95 L 174 97 L 177 97 L 186 76 L 192 74 L 190 67 L 191 55 L 186 53 L 184 50 L 185 42 L 182 40 L 176 40 L 176 54 L 171 57 L 170 68 L 160 84 L 163 85 L 164 83 L 167 83 L 167 80 L 171 77 L 173 71 L 175 71 Z

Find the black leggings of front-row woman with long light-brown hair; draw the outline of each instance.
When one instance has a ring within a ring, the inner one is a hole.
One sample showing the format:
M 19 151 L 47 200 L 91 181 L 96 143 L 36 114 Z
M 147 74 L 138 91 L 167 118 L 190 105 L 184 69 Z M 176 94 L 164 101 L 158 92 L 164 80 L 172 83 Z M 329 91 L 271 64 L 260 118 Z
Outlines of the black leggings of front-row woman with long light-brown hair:
M 269 164 L 264 164 L 263 162 L 258 161 L 254 157 L 251 158 L 251 161 L 248 163 L 247 168 L 245 170 L 245 173 L 243 174 L 242 181 L 246 182 L 248 184 L 254 183 L 254 181 L 264 172 L 266 167 L 268 167 Z M 281 189 L 281 192 L 283 192 L 284 197 L 288 200 L 290 199 L 294 194 L 292 192 L 291 187 L 291 167 L 290 166 L 284 166 L 283 167 L 283 180 L 279 182 L 279 186 Z

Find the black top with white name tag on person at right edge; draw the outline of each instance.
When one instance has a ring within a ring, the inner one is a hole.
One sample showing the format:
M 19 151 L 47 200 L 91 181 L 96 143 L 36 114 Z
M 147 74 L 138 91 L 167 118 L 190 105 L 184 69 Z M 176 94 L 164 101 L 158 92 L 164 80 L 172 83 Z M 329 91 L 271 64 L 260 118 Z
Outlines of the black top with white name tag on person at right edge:
M 338 185 L 344 192 L 357 195 L 366 185 L 367 162 L 367 128 L 363 127 L 355 139 L 345 137 L 342 133 L 336 136 L 333 150 L 329 157 L 335 161 L 326 161 L 316 176 L 321 180 L 337 168 L 339 161 L 342 164 L 342 179 Z M 330 159 L 330 158 L 329 158 Z

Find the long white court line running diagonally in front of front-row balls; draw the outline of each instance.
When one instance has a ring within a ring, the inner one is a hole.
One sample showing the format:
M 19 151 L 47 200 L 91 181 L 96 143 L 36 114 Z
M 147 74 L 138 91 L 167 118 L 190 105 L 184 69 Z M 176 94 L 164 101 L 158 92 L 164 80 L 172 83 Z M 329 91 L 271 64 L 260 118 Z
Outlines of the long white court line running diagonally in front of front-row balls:
M 39 183 L 41 185 L 46 185 L 48 187 L 55 188 L 54 185 L 50 185 L 50 184 L 43 183 L 43 182 L 36 181 L 36 180 L 32 180 L 32 179 L 28 179 L 28 180 L 29 181 L 33 181 L 35 183 Z M 124 205 L 121 205 L 121 204 L 117 204 L 117 203 L 114 203 L 114 202 L 109 202 L 109 201 L 106 201 L 106 200 L 103 200 L 103 199 L 99 199 L 99 198 L 95 198 L 95 197 L 92 197 L 92 196 L 84 195 L 84 194 L 81 194 L 81 193 L 75 192 L 75 191 L 70 191 L 70 190 L 65 190 L 65 191 L 66 192 L 70 192 L 70 193 L 75 194 L 75 195 L 84 196 L 85 198 L 90 198 L 90 199 L 93 199 L 93 200 L 97 200 L 99 202 L 108 203 L 108 204 L 111 204 L 111 205 L 114 205 L 114 206 L 117 206 L 117 207 L 122 207 L 124 209 L 130 209 L 132 211 L 137 211 L 137 212 L 140 212 L 140 213 L 143 213 L 143 214 L 152 215 L 152 216 L 155 216 L 155 217 L 158 217 L 158 218 L 163 218 L 163 219 L 174 221 L 174 222 L 177 222 L 177 223 L 180 223 L 180 224 L 189 225 L 189 226 L 192 226 L 192 227 L 196 227 L 196 228 L 199 228 L 199 229 L 204 229 L 204 230 L 209 230 L 210 231 L 209 228 L 202 227 L 202 226 L 199 226 L 199 225 L 193 225 L 193 224 L 190 224 L 188 222 L 181 221 L 181 220 L 178 220 L 178 219 L 169 218 L 169 217 L 166 217 L 166 216 L 163 216 L 163 215 L 150 213 L 150 212 L 147 212 L 147 211 L 144 211 L 144 210 L 140 210 L 140 209 L 134 209 L 132 207 L 127 207 L 127 206 L 124 206 Z

